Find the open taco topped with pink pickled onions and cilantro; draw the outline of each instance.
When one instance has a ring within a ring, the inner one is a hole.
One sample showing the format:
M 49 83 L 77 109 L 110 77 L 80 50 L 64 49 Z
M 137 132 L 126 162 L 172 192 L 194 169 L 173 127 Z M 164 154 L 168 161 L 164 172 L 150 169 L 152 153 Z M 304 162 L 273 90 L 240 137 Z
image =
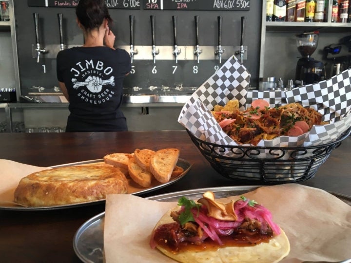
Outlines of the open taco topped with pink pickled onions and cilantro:
M 289 254 L 288 237 L 266 207 L 229 199 L 218 202 L 211 191 L 197 202 L 181 197 L 156 224 L 151 247 L 181 263 L 274 263 Z

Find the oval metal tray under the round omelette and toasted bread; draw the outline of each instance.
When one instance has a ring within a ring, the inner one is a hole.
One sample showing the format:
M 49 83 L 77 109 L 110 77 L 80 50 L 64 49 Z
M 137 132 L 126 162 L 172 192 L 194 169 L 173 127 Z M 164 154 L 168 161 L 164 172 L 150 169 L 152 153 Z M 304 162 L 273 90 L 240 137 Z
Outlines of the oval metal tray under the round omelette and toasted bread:
M 63 165 L 56 165 L 56 166 L 51 166 L 49 168 L 58 168 L 58 167 L 75 166 L 75 165 L 90 165 L 90 164 L 95 164 L 95 163 L 101 163 L 103 161 L 104 161 L 103 159 L 96 159 L 96 160 L 82 161 L 82 162 L 69 163 L 69 164 L 63 164 Z M 184 171 L 179 176 L 172 177 L 169 182 L 164 183 L 164 184 L 154 182 L 154 183 L 152 183 L 151 187 L 149 187 L 149 188 L 142 188 L 142 187 L 137 186 L 137 184 L 133 184 L 133 187 L 132 187 L 130 184 L 130 188 L 128 190 L 128 193 L 133 194 L 133 195 L 140 195 L 140 194 L 152 192 L 152 191 L 155 191 L 156 189 L 171 185 L 171 184 L 175 183 L 176 181 L 180 180 L 181 178 L 183 178 L 192 167 L 192 165 L 188 161 L 181 159 L 181 158 L 178 158 L 177 166 L 180 166 L 181 168 L 183 168 Z M 20 206 L 5 207 L 5 206 L 0 206 L 0 210 L 16 210 L 16 211 L 19 211 L 19 210 L 23 210 L 23 211 L 54 210 L 54 209 L 64 209 L 64 208 L 103 204 L 105 201 L 106 201 L 105 199 L 100 199 L 97 201 L 81 202 L 81 203 L 75 203 L 75 204 L 50 206 L 50 207 L 20 207 Z

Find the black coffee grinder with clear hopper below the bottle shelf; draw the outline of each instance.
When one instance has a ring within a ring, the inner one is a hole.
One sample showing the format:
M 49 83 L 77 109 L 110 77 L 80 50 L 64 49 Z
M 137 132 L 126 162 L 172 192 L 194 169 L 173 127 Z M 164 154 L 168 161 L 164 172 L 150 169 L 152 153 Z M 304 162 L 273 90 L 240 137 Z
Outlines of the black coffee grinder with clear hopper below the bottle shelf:
M 312 84 L 325 79 L 324 64 L 311 57 L 318 45 L 318 31 L 296 36 L 297 50 L 302 57 L 297 61 L 295 83 Z

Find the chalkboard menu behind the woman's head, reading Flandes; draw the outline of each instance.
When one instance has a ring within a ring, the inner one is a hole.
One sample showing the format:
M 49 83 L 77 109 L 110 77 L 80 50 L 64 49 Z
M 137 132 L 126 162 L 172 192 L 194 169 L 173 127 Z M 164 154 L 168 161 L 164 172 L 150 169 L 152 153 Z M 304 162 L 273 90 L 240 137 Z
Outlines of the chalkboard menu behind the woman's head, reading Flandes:
M 28 6 L 76 7 L 79 0 L 27 0 Z M 105 0 L 111 9 L 140 9 L 140 0 Z

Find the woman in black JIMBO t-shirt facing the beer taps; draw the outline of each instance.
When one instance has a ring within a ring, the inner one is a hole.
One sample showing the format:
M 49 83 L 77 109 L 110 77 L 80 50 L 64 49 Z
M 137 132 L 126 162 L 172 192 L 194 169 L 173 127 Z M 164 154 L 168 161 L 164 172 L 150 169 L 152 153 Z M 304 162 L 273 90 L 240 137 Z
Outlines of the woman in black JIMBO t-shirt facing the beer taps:
M 69 101 L 66 131 L 127 131 L 120 106 L 131 58 L 114 48 L 116 37 L 104 0 L 80 0 L 76 15 L 84 45 L 57 56 L 59 87 Z

